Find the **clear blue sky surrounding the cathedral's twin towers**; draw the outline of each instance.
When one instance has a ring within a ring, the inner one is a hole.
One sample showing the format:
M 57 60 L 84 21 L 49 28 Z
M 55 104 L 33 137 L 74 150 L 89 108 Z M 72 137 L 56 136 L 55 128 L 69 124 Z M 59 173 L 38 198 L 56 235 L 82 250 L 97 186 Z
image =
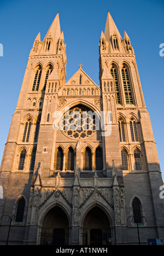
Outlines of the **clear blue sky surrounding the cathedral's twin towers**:
M 37 34 L 40 32 L 43 40 L 59 12 L 61 31 L 67 44 L 67 80 L 77 72 L 81 63 L 83 70 L 99 85 L 98 43 L 108 10 L 121 36 L 124 37 L 126 31 L 131 39 L 164 178 L 164 57 L 159 55 L 159 46 L 164 43 L 163 0 L 0 0 L 0 43 L 4 55 L 0 57 L 0 162 L 28 54 Z

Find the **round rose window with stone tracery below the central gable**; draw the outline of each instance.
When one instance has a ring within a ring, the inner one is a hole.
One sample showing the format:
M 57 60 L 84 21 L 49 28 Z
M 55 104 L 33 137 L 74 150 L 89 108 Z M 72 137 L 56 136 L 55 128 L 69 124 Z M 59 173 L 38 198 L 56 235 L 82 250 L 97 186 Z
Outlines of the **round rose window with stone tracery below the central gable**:
M 79 104 L 63 115 L 60 130 L 73 139 L 86 139 L 97 132 L 97 118 L 98 115 L 90 108 Z M 97 123 L 99 124 L 99 121 Z

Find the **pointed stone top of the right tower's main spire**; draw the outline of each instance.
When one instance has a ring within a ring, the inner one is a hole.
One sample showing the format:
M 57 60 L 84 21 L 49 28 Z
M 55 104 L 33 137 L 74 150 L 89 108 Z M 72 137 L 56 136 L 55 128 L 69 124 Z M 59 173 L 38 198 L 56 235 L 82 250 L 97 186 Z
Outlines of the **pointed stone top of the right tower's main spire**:
M 113 36 L 114 33 L 118 36 L 119 40 L 122 40 L 121 35 L 118 31 L 118 28 L 116 27 L 114 20 L 112 19 L 112 16 L 108 11 L 104 36 L 109 41 L 110 37 Z

